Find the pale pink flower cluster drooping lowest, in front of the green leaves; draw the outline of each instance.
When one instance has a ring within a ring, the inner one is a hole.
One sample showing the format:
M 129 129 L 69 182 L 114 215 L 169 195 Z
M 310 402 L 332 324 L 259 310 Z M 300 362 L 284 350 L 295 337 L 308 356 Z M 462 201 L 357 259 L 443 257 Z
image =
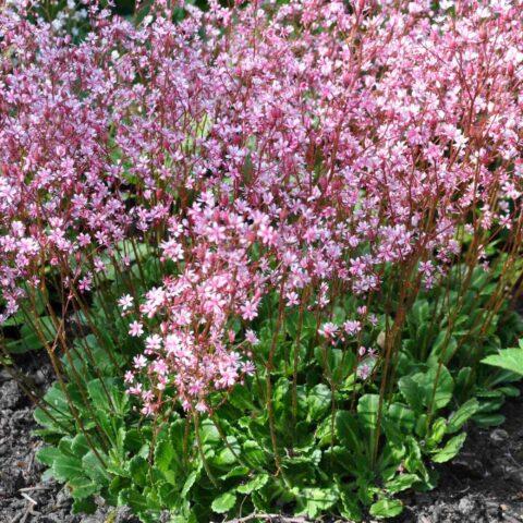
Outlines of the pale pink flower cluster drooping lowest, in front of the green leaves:
M 155 320 L 158 326 L 125 375 L 145 414 L 161 406 L 169 387 L 185 409 L 206 411 L 209 392 L 227 390 L 253 372 L 243 356 L 251 354 L 256 339 L 247 336 L 244 343 L 235 343 L 229 321 L 257 315 L 266 277 L 250 263 L 248 250 L 260 226 L 248 223 L 246 210 L 221 209 L 210 193 L 187 216 L 184 224 L 171 220 L 161 244 L 162 258 L 184 260 L 183 271 L 149 290 L 139 305 L 139 320 L 130 324 L 129 333 L 135 337 L 144 335 L 144 324 Z M 194 236 L 188 246 L 182 243 L 184 235 Z M 132 314 L 133 301 L 131 295 L 120 299 L 124 316 Z

